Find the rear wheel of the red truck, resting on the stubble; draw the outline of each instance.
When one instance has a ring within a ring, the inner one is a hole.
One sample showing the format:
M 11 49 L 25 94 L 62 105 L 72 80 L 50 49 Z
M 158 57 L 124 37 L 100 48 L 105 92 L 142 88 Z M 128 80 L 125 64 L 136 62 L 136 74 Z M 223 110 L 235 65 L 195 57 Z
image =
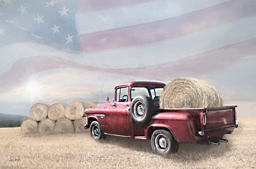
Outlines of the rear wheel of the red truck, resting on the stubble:
M 154 152 L 166 155 L 176 153 L 179 149 L 179 143 L 176 142 L 169 131 L 155 130 L 151 136 L 151 147 Z

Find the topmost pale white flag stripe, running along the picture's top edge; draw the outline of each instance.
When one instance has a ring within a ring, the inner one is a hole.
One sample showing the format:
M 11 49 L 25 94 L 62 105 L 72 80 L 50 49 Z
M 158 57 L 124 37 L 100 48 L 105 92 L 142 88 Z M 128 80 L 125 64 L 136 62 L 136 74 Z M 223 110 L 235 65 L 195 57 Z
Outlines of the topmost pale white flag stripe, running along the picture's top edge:
M 102 11 L 77 13 L 78 35 L 165 20 L 229 0 L 155 0 L 134 6 L 116 7 Z M 184 5 L 185 4 L 185 5 Z

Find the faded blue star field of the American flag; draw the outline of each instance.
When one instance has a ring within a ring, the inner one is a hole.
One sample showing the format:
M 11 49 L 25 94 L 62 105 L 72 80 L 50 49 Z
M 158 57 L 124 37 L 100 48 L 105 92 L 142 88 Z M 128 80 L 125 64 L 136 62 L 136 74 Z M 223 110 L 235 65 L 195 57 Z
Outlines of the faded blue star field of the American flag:
M 80 51 L 77 5 L 78 0 L 0 0 L 0 46 L 35 42 Z

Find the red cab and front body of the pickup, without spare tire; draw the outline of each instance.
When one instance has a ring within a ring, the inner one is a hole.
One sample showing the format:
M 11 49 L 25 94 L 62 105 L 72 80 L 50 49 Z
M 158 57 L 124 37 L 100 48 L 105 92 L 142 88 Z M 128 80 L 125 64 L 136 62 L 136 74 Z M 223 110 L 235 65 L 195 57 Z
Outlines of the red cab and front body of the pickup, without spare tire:
M 160 82 L 128 82 L 115 87 L 114 100 L 98 104 L 96 109 L 85 110 L 89 117 L 100 123 L 101 130 L 108 135 L 135 137 L 142 136 L 143 129 L 131 119 L 130 106 L 132 100 L 140 95 L 151 97 L 156 108 L 159 108 L 159 97 L 164 83 Z M 91 112 L 91 113 L 90 113 Z M 90 122 L 90 118 L 88 122 Z M 89 125 L 89 123 L 88 123 Z M 134 130 L 135 128 L 135 130 Z

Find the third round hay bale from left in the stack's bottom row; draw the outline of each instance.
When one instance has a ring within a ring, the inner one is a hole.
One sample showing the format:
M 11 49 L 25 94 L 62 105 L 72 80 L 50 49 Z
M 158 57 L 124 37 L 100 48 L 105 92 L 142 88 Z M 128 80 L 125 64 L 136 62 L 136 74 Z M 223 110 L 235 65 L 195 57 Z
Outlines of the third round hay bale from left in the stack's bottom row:
M 71 120 L 67 118 L 60 118 L 54 125 L 55 133 L 74 133 L 74 125 Z

